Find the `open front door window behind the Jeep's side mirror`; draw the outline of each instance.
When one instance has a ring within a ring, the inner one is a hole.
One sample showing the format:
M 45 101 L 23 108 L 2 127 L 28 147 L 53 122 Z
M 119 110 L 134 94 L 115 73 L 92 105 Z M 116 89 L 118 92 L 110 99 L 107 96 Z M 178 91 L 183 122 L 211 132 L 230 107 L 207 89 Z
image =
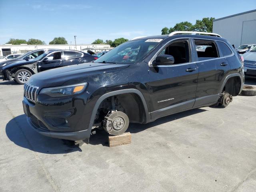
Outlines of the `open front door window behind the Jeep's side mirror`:
M 174 57 L 174 64 L 190 62 L 188 40 L 172 42 L 158 53 L 158 55 L 161 54 L 172 55 Z

